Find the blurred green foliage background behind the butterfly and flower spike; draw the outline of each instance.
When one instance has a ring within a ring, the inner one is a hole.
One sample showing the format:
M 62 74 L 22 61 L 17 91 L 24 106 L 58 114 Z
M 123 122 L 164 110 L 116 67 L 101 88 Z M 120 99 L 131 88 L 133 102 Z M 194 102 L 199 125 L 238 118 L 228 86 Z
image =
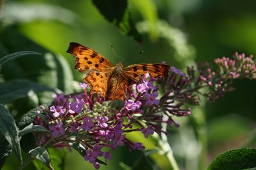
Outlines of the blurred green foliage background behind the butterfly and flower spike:
M 45 82 L 43 79 L 49 76 L 47 71 L 51 70 L 56 72 L 51 72 L 53 79 L 46 84 L 66 93 L 72 92 L 84 74 L 74 69 L 74 58 L 66 53 L 71 41 L 89 46 L 108 57 L 113 64 L 125 61 L 124 66 L 164 60 L 184 70 L 195 62 L 213 64 L 215 58 L 231 57 L 235 52 L 255 55 L 256 1 L 127 2 L 131 18 L 143 38 L 140 43 L 108 22 L 90 0 L 2 1 L 1 57 L 21 50 L 46 54 L 44 63 L 30 57 L 29 60 L 19 59 L 8 64 L 3 69 L 1 81 L 22 77 Z M 113 44 L 117 57 L 110 44 Z M 140 51 L 143 51 L 142 55 L 138 54 Z M 40 76 L 37 71 L 41 71 Z M 40 79 L 42 73 L 45 77 Z M 226 94 L 216 103 L 202 99 L 202 105 L 195 107 L 191 116 L 175 118 L 180 128 L 168 129 L 168 140 L 180 169 L 205 169 L 220 153 L 232 148 L 255 147 L 256 82 L 238 80 L 234 86 L 234 92 Z M 16 105 L 13 104 L 12 113 L 20 117 L 36 104 L 47 100 L 49 97 L 46 94 L 36 103 L 19 99 Z M 29 104 L 24 106 L 24 102 Z M 142 140 L 136 135 L 130 138 Z M 143 141 L 147 148 L 152 148 L 153 140 Z M 100 169 L 120 169 L 119 162 L 132 166 L 140 154 L 119 148 L 113 153 L 109 165 Z M 160 169 L 168 169 L 164 160 L 159 164 L 162 165 Z M 11 155 L 3 169 L 15 169 L 17 166 L 18 160 Z M 76 152 L 68 153 L 64 167 L 93 169 Z M 31 164 L 29 168 L 35 167 Z

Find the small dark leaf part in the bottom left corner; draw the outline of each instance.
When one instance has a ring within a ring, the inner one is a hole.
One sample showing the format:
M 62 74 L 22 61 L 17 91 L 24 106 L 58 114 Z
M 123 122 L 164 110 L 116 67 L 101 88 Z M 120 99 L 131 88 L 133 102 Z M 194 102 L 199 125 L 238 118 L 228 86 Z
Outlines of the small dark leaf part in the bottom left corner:
M 6 141 L 2 134 L 0 134 L 0 150 L 0 169 L 2 169 L 5 160 L 12 153 L 12 146 L 10 143 L 8 143 L 8 141 Z

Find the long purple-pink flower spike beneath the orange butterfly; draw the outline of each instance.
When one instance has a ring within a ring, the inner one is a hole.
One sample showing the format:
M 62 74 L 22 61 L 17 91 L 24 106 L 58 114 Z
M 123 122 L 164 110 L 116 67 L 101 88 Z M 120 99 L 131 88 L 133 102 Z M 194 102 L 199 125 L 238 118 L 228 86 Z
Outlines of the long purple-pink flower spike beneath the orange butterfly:
M 127 89 L 127 98 L 120 109 L 87 92 L 84 83 L 81 83 L 83 93 L 54 94 L 51 106 L 42 108 L 44 118 L 35 120 L 35 124 L 52 132 L 40 136 L 38 145 L 83 150 L 84 160 L 92 163 L 95 169 L 111 159 L 111 152 L 118 146 L 143 150 L 142 143 L 127 139 L 126 134 L 140 131 L 145 138 L 154 132 L 166 134 L 162 125 L 179 127 L 173 116 L 191 114 L 188 104 L 199 104 L 200 94 L 215 101 L 234 89 L 230 86 L 232 80 L 255 78 L 255 61 L 251 56 L 236 53 L 234 59 L 223 57 L 215 62 L 216 71 L 209 64 L 198 64 L 198 71 L 188 67 L 187 75 L 175 67 L 170 68 L 167 78 L 156 80 L 147 73 Z M 209 90 L 200 92 L 204 87 L 209 87 Z

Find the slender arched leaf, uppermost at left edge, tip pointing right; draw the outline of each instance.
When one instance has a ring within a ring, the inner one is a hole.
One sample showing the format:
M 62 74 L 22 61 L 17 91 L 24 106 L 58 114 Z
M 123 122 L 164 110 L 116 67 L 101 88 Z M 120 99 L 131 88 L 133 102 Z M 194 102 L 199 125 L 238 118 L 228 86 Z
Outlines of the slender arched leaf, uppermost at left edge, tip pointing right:
M 10 60 L 18 59 L 19 57 L 22 57 L 24 55 L 42 55 L 42 53 L 30 52 L 30 51 L 11 53 L 11 54 L 6 55 L 0 59 L 0 68 L 3 67 L 3 65 L 6 62 L 9 62 Z

